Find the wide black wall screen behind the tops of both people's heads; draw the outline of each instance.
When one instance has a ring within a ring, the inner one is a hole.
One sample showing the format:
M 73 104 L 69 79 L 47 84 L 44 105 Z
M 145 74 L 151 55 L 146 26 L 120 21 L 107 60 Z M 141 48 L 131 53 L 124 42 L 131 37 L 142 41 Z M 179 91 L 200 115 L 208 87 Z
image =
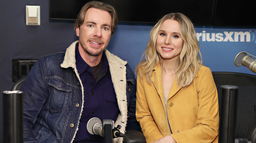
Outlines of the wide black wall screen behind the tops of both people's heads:
M 171 12 L 181 12 L 195 25 L 211 25 L 215 0 L 102 0 L 117 10 L 121 23 L 156 23 Z M 75 20 L 89 0 L 50 0 L 51 20 Z

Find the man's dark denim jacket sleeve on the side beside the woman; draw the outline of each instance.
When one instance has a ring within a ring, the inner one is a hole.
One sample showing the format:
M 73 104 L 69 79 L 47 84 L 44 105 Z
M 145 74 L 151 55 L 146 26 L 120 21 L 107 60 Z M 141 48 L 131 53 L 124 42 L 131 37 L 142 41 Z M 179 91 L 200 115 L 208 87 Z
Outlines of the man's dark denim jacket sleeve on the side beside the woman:
M 130 99 L 128 102 L 128 118 L 126 130 L 137 130 L 141 132 L 139 122 L 136 120 L 136 87 L 137 81 L 134 76 L 134 72 L 130 66 L 126 65 L 126 95 L 127 99 Z M 130 98 L 129 98 L 130 97 Z

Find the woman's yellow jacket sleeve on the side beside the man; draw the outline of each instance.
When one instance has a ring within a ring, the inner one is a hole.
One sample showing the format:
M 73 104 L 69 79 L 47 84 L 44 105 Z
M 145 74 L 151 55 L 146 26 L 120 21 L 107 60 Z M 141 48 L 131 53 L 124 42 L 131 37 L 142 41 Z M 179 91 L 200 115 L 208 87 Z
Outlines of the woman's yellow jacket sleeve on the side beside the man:
M 147 84 L 147 83 L 145 83 Z M 144 92 L 143 80 L 137 76 L 137 101 L 136 101 L 136 119 L 139 121 L 140 127 L 146 142 L 151 143 L 163 137 L 160 133 L 155 120 L 150 112 L 147 99 Z

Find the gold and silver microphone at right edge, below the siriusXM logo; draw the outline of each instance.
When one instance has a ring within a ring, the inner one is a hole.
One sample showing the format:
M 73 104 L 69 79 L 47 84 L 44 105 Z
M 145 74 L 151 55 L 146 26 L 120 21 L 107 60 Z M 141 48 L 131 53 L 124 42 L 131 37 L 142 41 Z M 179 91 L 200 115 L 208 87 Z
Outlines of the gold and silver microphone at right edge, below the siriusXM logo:
M 237 67 L 240 67 L 243 65 L 248 69 L 250 69 L 252 72 L 256 73 L 256 60 L 251 57 L 252 56 L 251 54 L 249 54 L 251 56 L 248 56 L 247 54 L 246 52 L 238 53 L 237 56 L 235 57 L 234 63 Z

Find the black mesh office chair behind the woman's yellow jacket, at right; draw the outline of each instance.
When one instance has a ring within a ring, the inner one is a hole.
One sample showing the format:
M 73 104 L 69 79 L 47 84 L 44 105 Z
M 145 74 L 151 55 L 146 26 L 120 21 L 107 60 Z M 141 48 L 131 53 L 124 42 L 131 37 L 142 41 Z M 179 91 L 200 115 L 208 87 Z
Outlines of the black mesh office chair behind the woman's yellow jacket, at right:
M 256 75 L 219 71 L 213 71 L 212 75 L 217 87 L 219 103 L 222 85 L 238 87 L 235 138 L 246 138 L 249 141 L 255 138 Z

